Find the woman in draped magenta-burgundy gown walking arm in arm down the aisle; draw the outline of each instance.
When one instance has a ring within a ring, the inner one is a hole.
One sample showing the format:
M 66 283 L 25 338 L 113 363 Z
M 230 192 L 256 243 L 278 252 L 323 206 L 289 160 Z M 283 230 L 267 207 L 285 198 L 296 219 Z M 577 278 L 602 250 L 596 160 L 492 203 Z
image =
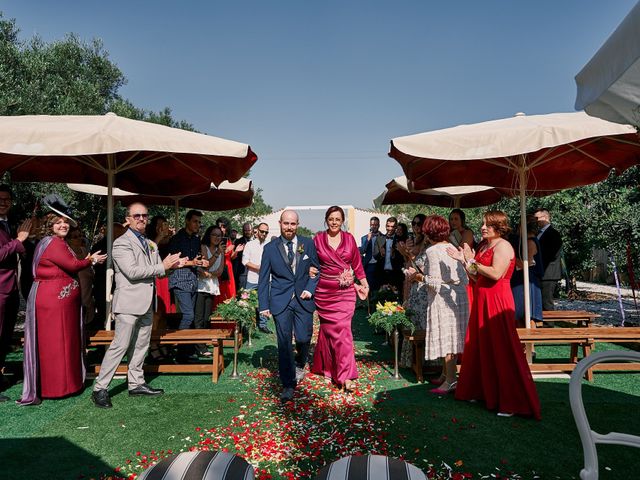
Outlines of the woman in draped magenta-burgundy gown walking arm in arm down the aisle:
M 330 207 L 324 219 L 327 231 L 318 233 L 313 239 L 320 260 L 320 280 L 315 292 L 320 332 L 311 371 L 351 391 L 358 378 L 351 319 L 356 291 L 361 298 L 366 297 L 369 284 L 355 239 L 341 230 L 344 223 L 342 208 Z M 354 277 L 360 285 L 354 284 Z

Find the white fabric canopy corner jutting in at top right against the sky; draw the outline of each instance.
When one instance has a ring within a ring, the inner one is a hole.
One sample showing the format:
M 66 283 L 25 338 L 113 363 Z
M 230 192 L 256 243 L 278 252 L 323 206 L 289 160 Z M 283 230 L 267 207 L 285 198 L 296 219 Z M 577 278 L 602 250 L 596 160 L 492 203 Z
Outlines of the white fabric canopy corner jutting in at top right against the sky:
M 640 2 L 575 77 L 576 110 L 640 125 Z

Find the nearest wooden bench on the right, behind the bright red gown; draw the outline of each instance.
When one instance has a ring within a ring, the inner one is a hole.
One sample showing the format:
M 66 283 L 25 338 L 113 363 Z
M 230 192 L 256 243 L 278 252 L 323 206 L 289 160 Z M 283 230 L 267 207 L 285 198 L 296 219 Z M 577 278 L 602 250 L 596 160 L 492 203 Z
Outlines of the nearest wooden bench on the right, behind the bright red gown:
M 583 356 L 593 351 L 596 342 L 633 343 L 640 341 L 640 327 L 575 327 L 575 328 L 518 328 L 518 336 L 523 343 L 570 344 L 569 363 L 533 363 L 532 372 L 571 372 L 578 363 L 578 347 Z M 640 363 L 603 363 L 587 370 L 585 378 L 593 380 L 593 371 L 640 370 Z

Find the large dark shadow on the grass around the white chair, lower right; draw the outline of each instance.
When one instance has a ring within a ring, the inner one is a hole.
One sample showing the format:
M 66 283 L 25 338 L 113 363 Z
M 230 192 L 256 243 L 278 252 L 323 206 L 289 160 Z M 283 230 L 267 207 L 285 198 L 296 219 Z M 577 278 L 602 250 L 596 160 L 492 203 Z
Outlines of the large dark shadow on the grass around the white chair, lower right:
M 636 377 L 637 381 L 637 377 Z M 569 387 L 563 381 L 537 381 L 542 420 L 497 417 L 479 403 L 453 395 L 438 396 L 430 385 L 398 385 L 378 395 L 373 415 L 391 423 L 390 441 L 404 445 L 407 459 L 417 466 L 425 459 L 438 464 L 461 462 L 461 472 L 516 472 L 523 478 L 577 478 L 583 466 L 582 446 L 569 406 Z M 638 434 L 637 395 L 583 384 L 583 398 L 591 428 Z M 637 449 L 598 447 L 600 478 L 630 478 L 640 468 Z M 607 467 L 607 469 L 605 469 Z M 474 477 L 475 478 L 475 477 Z

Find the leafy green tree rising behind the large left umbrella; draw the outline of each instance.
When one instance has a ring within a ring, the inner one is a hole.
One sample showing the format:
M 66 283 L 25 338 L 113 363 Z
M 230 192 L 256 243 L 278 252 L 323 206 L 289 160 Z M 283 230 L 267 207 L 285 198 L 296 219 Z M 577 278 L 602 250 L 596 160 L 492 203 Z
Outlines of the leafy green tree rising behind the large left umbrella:
M 20 41 L 14 20 L 0 12 L 0 115 L 117 115 L 196 131 L 192 124 L 173 118 L 171 109 L 153 112 L 136 107 L 118 91 L 126 83 L 122 71 L 109 59 L 99 40 L 84 42 L 75 35 L 45 43 L 34 37 Z M 3 182 L 11 183 L 8 175 Z M 53 183 L 15 183 L 15 214 L 31 215 L 36 199 L 59 193 L 74 211 L 81 225 L 91 233 L 106 219 L 106 199 L 73 192 L 66 185 Z M 271 212 L 257 189 L 251 207 L 228 212 L 207 213 L 213 222 L 219 214 L 242 224 Z M 124 218 L 124 208 L 116 204 L 114 218 Z M 186 210 L 180 211 L 180 221 Z M 151 214 L 162 214 L 173 221 L 172 207 L 150 206 Z M 181 225 L 179 225 L 181 226 Z

